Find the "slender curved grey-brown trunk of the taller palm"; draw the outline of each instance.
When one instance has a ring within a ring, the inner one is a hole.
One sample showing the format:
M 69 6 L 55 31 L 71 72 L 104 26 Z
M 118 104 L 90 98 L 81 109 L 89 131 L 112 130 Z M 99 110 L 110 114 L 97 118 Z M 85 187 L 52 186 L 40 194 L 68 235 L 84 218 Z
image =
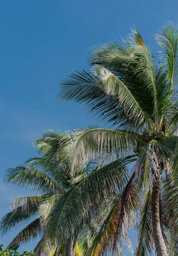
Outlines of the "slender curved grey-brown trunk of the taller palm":
M 158 173 L 157 177 L 155 177 L 155 182 L 153 184 L 152 202 L 151 202 L 153 240 L 155 242 L 157 256 L 167 256 L 166 244 L 164 242 L 164 238 L 161 232 L 161 223 L 160 223 L 160 216 L 159 216 L 161 172 L 163 170 L 163 168 L 161 168 L 161 165 L 159 166 L 159 168 L 160 168 L 160 172 Z

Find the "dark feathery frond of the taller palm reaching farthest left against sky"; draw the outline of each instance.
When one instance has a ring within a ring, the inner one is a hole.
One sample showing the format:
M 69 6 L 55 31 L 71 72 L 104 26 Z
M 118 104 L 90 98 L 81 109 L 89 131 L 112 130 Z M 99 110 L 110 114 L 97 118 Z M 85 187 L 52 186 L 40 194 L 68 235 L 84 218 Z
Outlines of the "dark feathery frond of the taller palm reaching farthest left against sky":
M 118 96 L 108 95 L 99 80 L 99 77 L 89 71 L 72 73 L 62 81 L 59 97 L 85 103 L 88 113 L 94 113 L 106 123 L 122 124 L 127 130 L 134 130 L 136 120 L 127 118 L 127 113 L 123 111 L 124 105 L 118 104 Z

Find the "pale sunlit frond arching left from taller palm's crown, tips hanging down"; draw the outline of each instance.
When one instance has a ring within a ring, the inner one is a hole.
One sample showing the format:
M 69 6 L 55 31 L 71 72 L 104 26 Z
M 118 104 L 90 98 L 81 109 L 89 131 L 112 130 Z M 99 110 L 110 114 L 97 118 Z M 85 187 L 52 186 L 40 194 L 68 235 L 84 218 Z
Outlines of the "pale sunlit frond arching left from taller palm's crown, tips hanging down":
M 128 154 L 135 141 L 134 135 L 120 130 L 87 129 L 72 131 L 71 138 L 63 141 L 59 158 L 68 163 L 68 172 L 88 162 L 99 159 L 99 156 L 126 153 Z

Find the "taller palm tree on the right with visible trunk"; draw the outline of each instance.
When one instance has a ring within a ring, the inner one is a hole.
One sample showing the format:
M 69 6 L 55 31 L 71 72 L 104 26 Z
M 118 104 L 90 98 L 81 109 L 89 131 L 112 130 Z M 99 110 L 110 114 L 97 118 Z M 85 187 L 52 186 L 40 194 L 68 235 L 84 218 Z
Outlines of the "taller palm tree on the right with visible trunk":
M 156 55 L 136 28 L 121 42 L 92 47 L 91 70 L 72 73 L 59 88 L 61 99 L 85 104 L 113 126 L 71 131 L 58 151 L 64 164 L 69 160 L 70 177 L 88 161 L 115 157 L 65 193 L 46 222 L 51 237 L 62 233 L 64 241 L 83 218 L 95 230 L 98 203 L 107 198 L 113 207 L 96 235 L 90 232 L 86 255 L 104 255 L 111 247 L 121 254 L 138 218 L 135 255 L 147 255 L 153 244 L 158 256 L 178 254 L 178 28 L 168 22 L 155 39 L 162 47 Z

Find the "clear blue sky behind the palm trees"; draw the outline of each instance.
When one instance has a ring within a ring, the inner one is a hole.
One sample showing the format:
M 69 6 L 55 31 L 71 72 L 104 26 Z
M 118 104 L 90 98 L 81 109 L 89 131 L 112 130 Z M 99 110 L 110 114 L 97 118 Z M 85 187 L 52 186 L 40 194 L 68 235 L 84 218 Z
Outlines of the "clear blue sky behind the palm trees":
M 64 131 L 93 122 L 81 105 L 56 99 L 59 81 L 86 67 L 86 49 L 126 35 L 133 24 L 156 48 L 154 33 L 167 20 L 178 23 L 177 13 L 176 0 L 1 1 L 0 217 L 11 199 L 31 195 L 28 189 L 4 184 L 3 175 L 37 155 L 32 140 L 48 128 Z M 19 231 L 0 243 L 6 246 Z M 23 249 L 33 247 L 30 243 Z

